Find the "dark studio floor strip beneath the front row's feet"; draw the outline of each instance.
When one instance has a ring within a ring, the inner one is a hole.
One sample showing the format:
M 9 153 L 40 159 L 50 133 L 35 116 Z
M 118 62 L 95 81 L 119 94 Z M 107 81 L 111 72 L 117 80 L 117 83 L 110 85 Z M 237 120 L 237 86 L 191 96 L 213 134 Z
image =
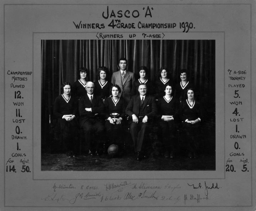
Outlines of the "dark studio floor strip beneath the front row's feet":
M 164 158 L 163 155 L 149 156 L 141 161 L 135 155 L 117 157 L 77 156 L 67 158 L 66 154 L 42 154 L 42 171 L 180 171 L 215 170 L 215 155 L 200 155 L 190 159 L 185 156 Z

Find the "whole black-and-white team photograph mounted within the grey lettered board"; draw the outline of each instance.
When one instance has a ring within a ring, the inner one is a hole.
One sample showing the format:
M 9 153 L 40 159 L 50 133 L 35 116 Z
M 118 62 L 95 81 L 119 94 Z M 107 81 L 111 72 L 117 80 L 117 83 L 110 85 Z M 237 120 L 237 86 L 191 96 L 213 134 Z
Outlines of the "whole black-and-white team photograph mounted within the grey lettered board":
M 42 40 L 41 58 L 42 171 L 215 170 L 215 40 Z

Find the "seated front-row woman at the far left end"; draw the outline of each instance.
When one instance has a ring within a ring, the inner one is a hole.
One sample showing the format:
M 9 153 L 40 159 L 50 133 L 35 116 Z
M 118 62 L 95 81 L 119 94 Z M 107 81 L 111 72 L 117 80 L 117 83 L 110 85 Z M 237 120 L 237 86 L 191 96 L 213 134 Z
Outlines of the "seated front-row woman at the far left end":
M 71 96 L 71 84 L 63 82 L 62 95 L 54 101 L 53 114 L 57 117 L 57 125 L 60 129 L 59 136 L 63 141 L 64 151 L 67 157 L 75 157 L 77 143 L 77 100 Z

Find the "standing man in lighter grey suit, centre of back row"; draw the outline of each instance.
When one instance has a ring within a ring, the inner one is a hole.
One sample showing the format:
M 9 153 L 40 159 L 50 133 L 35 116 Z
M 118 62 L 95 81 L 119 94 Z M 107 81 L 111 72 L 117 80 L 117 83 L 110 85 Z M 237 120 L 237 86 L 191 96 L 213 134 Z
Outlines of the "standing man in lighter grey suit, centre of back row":
M 123 97 L 128 103 L 131 98 L 131 86 L 135 81 L 134 75 L 132 72 L 126 69 L 127 67 L 127 60 L 126 58 L 120 58 L 119 60 L 119 69 L 120 71 L 116 71 L 113 73 L 111 77 L 111 83 L 113 85 L 118 85 L 121 88 L 121 93 L 119 93 L 119 97 Z

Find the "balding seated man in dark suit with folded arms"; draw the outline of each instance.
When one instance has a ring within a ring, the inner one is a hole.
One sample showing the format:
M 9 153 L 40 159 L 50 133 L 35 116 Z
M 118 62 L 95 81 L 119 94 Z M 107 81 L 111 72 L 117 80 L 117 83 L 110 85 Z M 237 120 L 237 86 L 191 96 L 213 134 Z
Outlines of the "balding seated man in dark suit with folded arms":
M 86 92 L 87 95 L 82 96 L 78 102 L 79 124 L 84 131 L 88 154 L 93 155 L 94 144 L 96 155 L 99 155 L 99 143 L 103 138 L 104 132 L 104 126 L 101 123 L 99 113 L 104 111 L 104 104 L 99 96 L 94 95 L 93 82 L 88 81 L 86 83 Z M 95 139 L 93 139 L 93 133 Z

